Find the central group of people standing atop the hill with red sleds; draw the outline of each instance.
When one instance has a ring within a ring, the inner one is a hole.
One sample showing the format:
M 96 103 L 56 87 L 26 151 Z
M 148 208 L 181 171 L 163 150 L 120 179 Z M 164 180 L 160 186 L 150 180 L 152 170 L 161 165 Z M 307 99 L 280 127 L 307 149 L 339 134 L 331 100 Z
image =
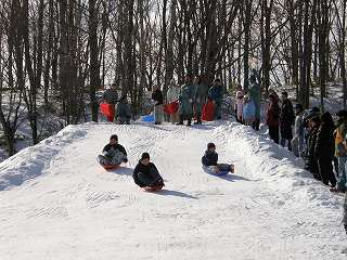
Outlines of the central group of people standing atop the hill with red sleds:
M 211 87 L 206 82 L 203 76 L 193 76 L 188 74 L 184 83 L 179 87 L 174 81 L 167 91 L 166 105 L 176 105 L 177 109 L 170 114 L 170 121 L 177 125 L 194 125 L 202 123 L 202 114 L 204 105 L 207 101 L 215 104 L 215 119 L 221 119 L 221 105 L 224 94 L 224 87 L 219 78 L 214 80 Z M 155 123 L 160 125 L 164 120 L 164 94 L 157 87 L 153 88 L 152 100 L 155 102 Z

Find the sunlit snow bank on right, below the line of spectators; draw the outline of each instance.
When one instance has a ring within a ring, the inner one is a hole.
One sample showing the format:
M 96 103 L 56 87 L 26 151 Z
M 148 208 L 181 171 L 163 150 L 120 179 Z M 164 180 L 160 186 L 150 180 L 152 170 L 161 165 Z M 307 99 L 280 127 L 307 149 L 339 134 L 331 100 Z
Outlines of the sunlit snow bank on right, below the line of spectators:
M 274 192 L 307 206 L 340 208 L 342 197 L 332 195 L 326 186 L 314 180 L 286 148 L 235 122 L 215 130 L 215 134 L 226 133 L 229 133 L 229 146 L 242 153 L 249 174 L 266 182 Z

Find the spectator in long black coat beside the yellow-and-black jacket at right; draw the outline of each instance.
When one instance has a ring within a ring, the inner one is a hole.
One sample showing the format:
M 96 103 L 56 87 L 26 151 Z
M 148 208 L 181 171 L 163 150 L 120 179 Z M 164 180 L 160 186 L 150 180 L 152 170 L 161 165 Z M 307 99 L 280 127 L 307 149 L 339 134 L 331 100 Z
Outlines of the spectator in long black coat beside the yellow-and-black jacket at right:
M 317 133 L 314 154 L 318 158 L 319 174 L 325 185 L 336 186 L 333 170 L 335 125 L 332 115 L 325 112 L 321 116 L 321 126 Z

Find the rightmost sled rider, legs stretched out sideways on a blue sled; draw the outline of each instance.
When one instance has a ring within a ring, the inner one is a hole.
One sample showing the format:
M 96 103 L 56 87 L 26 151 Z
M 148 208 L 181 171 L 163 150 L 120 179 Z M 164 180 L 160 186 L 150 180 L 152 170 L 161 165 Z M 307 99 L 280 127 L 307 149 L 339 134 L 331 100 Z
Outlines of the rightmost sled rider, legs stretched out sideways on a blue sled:
M 202 158 L 203 166 L 211 170 L 214 173 L 234 172 L 233 165 L 218 164 L 218 154 L 216 153 L 216 145 L 214 143 L 207 144 L 207 151 Z

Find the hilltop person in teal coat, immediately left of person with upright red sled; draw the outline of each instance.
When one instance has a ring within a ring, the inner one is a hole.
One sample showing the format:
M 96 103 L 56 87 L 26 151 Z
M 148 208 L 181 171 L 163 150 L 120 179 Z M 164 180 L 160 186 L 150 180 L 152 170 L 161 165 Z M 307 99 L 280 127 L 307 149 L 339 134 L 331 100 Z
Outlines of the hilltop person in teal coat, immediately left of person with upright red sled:
M 194 125 L 202 125 L 203 106 L 206 103 L 208 93 L 208 84 L 205 82 L 203 76 L 195 77 L 195 94 L 194 94 L 194 107 L 196 115 L 196 122 Z

